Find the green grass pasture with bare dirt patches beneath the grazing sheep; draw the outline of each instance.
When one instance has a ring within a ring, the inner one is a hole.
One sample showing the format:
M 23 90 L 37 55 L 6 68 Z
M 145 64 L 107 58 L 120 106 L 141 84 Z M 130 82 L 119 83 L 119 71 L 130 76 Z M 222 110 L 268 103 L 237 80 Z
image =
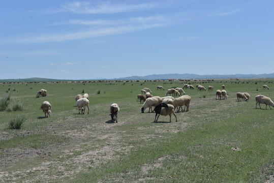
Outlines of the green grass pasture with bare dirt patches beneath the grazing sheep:
M 0 182 L 272 182 L 274 110 L 255 109 L 254 98 L 273 100 L 274 79 L 191 81 L 214 91 L 225 84 L 228 99 L 185 89 L 190 111 L 176 113 L 177 123 L 174 116 L 151 123 L 155 114 L 141 113 L 143 87 L 164 97 L 185 83 L 0 83 L 0 98 L 11 95 L 10 106 L 24 106 L 0 112 Z M 36 98 L 41 88 L 48 96 Z M 83 90 L 90 113 L 79 115 L 74 98 Z M 237 102 L 237 92 L 251 100 Z M 49 118 L 40 109 L 45 100 Z M 112 103 L 120 107 L 118 123 L 110 120 Z M 8 128 L 12 116 L 25 117 L 20 130 Z

